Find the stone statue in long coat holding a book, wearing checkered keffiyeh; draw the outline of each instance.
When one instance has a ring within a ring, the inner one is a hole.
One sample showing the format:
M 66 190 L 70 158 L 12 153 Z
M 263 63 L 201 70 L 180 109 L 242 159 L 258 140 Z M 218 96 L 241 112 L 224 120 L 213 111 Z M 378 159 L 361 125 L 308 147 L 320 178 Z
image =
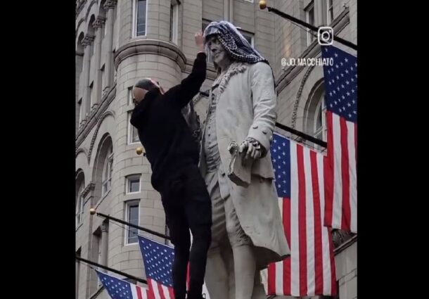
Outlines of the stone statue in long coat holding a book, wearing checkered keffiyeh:
M 231 23 L 210 23 L 204 37 L 218 72 L 200 148 L 213 222 L 205 282 L 211 299 L 266 299 L 260 270 L 290 255 L 269 151 L 274 75 Z

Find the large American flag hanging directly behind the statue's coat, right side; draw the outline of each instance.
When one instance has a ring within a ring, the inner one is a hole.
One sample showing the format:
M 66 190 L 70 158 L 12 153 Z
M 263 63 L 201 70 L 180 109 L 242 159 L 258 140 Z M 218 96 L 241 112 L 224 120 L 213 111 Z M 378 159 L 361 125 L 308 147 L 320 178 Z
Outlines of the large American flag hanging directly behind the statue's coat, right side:
M 269 265 L 269 295 L 335 295 L 331 229 L 324 227 L 324 155 L 275 133 L 271 159 L 290 257 Z

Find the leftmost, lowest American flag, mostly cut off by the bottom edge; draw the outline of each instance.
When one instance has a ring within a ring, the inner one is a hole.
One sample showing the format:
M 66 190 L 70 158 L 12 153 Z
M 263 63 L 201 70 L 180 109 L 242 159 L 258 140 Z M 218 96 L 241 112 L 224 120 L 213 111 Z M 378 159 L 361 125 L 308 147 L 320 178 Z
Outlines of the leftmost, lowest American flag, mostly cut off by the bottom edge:
M 98 278 L 112 299 L 151 299 L 147 288 L 129 283 L 96 270 Z

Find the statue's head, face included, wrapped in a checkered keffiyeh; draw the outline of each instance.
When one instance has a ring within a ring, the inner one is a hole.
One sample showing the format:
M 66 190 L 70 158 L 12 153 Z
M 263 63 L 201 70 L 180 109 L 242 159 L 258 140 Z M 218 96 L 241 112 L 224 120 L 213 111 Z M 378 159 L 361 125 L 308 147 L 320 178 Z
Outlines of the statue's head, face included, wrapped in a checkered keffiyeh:
M 257 63 L 267 60 L 243 37 L 237 28 L 226 21 L 212 22 L 204 30 L 205 49 L 212 55 L 214 66 L 224 61 Z

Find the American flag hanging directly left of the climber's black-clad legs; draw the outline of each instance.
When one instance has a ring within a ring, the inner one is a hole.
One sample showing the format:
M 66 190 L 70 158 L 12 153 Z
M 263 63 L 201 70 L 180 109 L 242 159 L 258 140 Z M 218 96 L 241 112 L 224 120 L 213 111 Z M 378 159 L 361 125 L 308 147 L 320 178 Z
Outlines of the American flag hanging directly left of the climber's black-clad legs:
M 174 299 L 172 267 L 174 249 L 139 236 L 149 291 L 154 299 Z

